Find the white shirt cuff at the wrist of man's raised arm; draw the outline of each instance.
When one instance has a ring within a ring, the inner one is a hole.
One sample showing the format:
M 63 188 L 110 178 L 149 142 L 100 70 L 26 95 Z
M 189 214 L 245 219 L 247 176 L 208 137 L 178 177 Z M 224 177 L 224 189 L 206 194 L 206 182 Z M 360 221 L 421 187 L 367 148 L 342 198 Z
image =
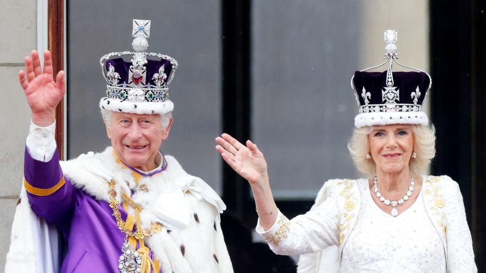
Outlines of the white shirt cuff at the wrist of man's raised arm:
M 47 127 L 35 125 L 30 121 L 30 130 L 25 146 L 29 155 L 38 161 L 48 162 L 56 152 L 56 122 Z

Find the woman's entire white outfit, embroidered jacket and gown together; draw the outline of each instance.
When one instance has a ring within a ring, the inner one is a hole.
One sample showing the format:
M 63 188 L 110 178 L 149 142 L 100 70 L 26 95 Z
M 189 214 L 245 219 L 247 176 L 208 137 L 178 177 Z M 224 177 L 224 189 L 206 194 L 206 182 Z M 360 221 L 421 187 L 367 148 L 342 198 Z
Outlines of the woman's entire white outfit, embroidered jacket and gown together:
M 298 272 L 477 272 L 459 185 L 448 176 L 423 180 L 397 217 L 374 203 L 367 179 L 330 180 L 309 212 L 288 220 L 278 211 L 268 231 L 260 221 L 256 231 L 276 254 L 315 253 L 301 256 Z M 320 256 L 333 247 L 337 269 Z

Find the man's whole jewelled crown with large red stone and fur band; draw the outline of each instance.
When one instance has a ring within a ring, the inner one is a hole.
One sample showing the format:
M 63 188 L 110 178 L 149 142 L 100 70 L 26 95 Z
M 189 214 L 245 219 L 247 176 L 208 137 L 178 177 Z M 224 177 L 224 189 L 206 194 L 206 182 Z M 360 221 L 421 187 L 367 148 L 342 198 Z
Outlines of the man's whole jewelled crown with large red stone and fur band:
M 133 20 L 132 36 L 133 52 L 112 52 L 100 59 L 103 77 L 107 82 L 106 98 L 102 99 L 100 107 L 138 114 L 172 111 L 168 109 L 173 108 L 169 101 L 168 86 L 174 79 L 177 61 L 168 55 L 145 52 L 148 48 L 147 38 L 150 36 L 150 20 Z M 131 58 L 129 62 L 126 61 L 128 58 Z M 138 105 L 128 105 L 133 103 Z M 164 103 L 170 104 L 169 107 Z

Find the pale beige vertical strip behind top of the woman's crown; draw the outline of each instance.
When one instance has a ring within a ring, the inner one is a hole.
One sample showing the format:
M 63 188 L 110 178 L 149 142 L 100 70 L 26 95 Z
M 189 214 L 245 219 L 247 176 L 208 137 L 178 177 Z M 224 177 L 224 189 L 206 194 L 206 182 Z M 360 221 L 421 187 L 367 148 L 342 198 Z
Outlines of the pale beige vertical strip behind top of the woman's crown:
M 359 67 L 372 67 L 384 62 L 383 31 L 398 31 L 399 62 L 429 70 L 429 7 L 424 0 L 367 0 L 361 6 Z M 386 68 L 383 69 L 383 71 Z

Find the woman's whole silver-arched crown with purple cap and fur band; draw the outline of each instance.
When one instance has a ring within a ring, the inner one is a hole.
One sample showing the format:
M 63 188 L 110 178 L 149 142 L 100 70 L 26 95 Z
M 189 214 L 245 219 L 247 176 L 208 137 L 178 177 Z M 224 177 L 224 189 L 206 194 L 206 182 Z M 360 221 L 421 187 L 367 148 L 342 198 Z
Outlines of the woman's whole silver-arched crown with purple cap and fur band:
M 400 64 L 398 60 L 396 30 L 385 30 L 386 61 L 375 67 L 356 71 L 351 78 L 351 87 L 359 106 L 355 126 L 385 124 L 428 124 L 422 105 L 432 80 L 426 72 Z M 389 62 L 387 71 L 365 72 Z M 416 71 L 393 72 L 393 63 Z

